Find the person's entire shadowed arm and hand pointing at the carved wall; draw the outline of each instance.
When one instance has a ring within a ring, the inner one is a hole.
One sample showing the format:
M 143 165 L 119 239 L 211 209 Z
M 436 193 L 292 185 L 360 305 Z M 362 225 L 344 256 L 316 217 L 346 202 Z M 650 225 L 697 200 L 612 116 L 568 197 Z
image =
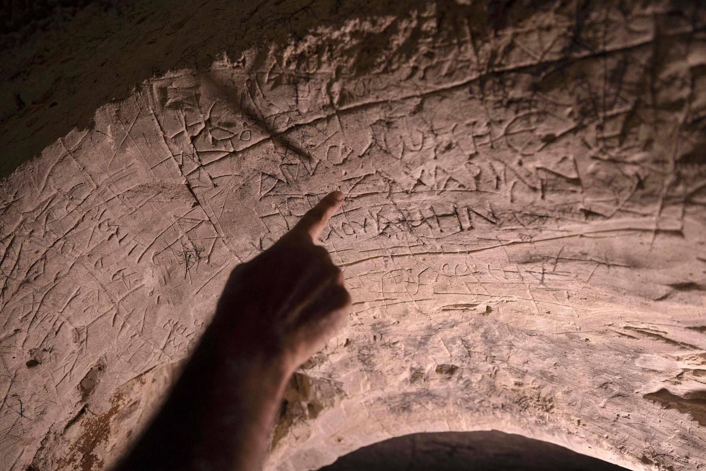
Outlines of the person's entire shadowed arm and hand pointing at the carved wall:
M 116 470 L 259 470 L 289 376 L 341 326 L 350 297 L 314 244 L 334 191 L 237 266 L 162 409 Z M 184 434 L 189 430 L 191 434 Z

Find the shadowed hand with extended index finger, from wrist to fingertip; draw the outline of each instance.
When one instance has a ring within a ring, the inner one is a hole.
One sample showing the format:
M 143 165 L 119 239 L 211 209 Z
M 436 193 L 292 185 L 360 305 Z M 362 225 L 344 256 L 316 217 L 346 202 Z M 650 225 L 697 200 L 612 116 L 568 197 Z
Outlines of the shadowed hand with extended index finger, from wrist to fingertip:
M 328 251 L 314 244 L 343 203 L 333 191 L 270 249 L 231 273 L 211 326 L 229 354 L 267 355 L 294 371 L 342 326 L 351 299 Z

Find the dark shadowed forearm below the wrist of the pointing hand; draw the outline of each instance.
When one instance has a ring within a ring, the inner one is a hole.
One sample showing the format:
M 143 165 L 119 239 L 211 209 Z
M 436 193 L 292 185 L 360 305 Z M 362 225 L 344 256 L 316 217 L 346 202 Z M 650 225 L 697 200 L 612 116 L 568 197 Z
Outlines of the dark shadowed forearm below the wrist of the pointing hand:
M 215 322 L 116 470 L 259 470 L 290 373 L 280 355 L 229 341 Z

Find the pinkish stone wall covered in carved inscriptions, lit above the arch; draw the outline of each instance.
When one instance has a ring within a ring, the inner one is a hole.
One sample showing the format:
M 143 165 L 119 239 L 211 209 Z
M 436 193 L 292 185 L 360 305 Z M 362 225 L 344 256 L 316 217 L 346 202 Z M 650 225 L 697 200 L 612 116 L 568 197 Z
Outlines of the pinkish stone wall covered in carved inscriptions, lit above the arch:
M 353 309 L 294 376 L 268 469 L 480 429 L 706 466 L 706 15 L 523 5 L 136 16 L 95 54 L 145 68 L 202 35 L 229 55 L 116 66 L 138 88 L 56 134 L 107 80 L 90 56 L 55 92 L 76 119 L 5 121 L 11 150 L 49 145 L 1 188 L 2 467 L 111 463 L 229 270 L 333 189 L 322 243 Z

